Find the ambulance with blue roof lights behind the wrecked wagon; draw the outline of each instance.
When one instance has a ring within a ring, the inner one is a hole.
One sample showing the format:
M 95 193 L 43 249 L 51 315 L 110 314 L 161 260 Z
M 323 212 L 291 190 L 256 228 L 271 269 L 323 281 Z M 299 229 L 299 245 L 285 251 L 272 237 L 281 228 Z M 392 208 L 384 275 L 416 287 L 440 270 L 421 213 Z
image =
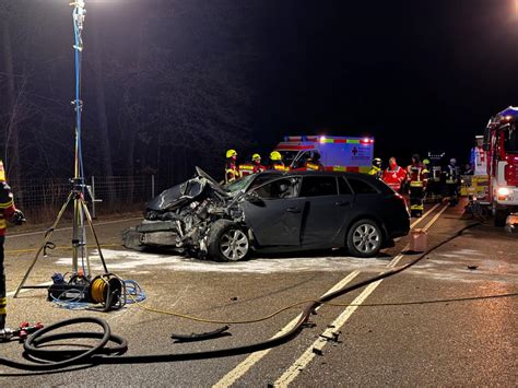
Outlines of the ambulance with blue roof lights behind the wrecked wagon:
M 368 173 L 374 155 L 373 138 L 333 136 L 290 136 L 275 146 L 284 164 L 304 168 L 307 160 L 320 154 L 326 171 Z

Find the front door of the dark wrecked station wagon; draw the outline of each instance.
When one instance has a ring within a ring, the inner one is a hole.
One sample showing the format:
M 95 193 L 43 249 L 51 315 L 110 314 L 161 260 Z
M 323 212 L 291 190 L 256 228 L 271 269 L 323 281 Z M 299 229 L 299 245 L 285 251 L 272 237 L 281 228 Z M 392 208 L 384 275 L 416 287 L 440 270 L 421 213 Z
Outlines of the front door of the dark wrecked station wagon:
M 301 245 L 304 200 L 296 198 L 299 181 L 296 177 L 275 179 L 245 197 L 245 223 L 259 245 Z

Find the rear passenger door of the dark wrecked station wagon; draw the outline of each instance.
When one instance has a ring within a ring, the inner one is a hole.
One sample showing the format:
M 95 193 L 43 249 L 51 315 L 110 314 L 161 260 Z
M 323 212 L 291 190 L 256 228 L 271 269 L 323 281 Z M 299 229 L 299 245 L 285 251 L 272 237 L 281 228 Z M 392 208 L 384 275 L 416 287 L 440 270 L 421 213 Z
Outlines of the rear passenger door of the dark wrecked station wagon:
M 337 236 L 348 222 L 353 202 L 351 189 L 333 175 L 304 176 L 299 199 L 305 201 L 302 226 L 303 245 L 334 245 Z

